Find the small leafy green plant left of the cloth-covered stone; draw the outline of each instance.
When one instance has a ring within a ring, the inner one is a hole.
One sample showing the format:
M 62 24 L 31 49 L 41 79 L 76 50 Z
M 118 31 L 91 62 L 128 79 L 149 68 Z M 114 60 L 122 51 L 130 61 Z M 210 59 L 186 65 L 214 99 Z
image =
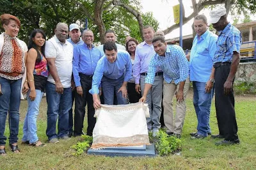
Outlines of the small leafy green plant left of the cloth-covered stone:
M 78 142 L 77 144 L 74 144 L 71 146 L 71 148 L 76 150 L 76 153 L 73 153 L 73 155 L 81 155 L 85 150 L 87 150 L 91 144 L 92 144 L 92 136 L 89 135 L 81 135 L 84 141 Z

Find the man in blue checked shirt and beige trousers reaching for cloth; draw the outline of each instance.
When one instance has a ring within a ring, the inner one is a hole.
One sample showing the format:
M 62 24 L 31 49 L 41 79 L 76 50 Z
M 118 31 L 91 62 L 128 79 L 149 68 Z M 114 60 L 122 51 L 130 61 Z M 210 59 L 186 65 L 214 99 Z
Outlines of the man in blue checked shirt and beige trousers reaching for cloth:
M 169 91 L 168 88 L 166 88 L 168 90 L 163 89 L 163 94 L 169 95 L 169 97 L 172 99 L 175 91 L 177 91 L 177 103 L 185 105 L 185 98 L 188 89 L 185 89 L 184 86 L 186 86 L 185 82 L 188 78 L 189 63 L 188 59 L 186 59 L 183 49 L 178 45 L 167 45 L 163 36 L 154 37 L 152 43 L 156 54 L 150 59 L 150 63 L 148 65 L 148 73 L 145 79 L 144 93 L 140 101 L 146 101 L 147 93 L 152 87 L 152 84 L 154 84 L 157 67 L 159 67 L 161 70 L 163 70 L 164 81 L 166 84 L 170 84 L 170 86 L 172 86 L 171 91 Z M 166 118 L 166 114 L 168 114 L 168 119 Z M 173 135 L 176 135 L 176 137 L 180 138 L 186 109 L 179 109 L 179 111 L 177 111 L 174 123 L 172 117 L 173 115 L 170 116 L 169 114 L 171 114 L 171 112 L 164 112 L 164 124 L 168 130 L 166 130 L 166 132 L 172 132 L 172 134 L 174 132 Z

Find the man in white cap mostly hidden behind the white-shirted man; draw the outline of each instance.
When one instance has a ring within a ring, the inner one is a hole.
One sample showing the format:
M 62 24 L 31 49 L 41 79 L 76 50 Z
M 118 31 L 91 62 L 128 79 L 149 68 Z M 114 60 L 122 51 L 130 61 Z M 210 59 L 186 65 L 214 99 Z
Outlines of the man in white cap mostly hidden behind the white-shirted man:
M 70 42 L 73 47 L 76 47 L 77 45 L 83 44 L 83 40 L 80 38 L 81 31 L 77 24 L 73 23 L 69 26 L 69 32 L 68 35 L 70 38 L 67 39 L 68 42 Z M 72 113 L 72 107 L 75 100 L 75 93 L 76 91 L 72 91 L 72 106 L 71 109 L 68 111 L 69 118 L 68 118 L 68 137 L 71 137 L 73 134 L 73 113 Z

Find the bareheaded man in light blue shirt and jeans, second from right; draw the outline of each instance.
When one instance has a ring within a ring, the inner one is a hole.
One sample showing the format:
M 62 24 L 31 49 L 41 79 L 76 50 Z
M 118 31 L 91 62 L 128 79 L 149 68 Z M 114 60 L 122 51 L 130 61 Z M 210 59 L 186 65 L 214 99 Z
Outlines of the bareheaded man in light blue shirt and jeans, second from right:
M 217 35 L 207 29 L 205 15 L 197 15 L 194 20 L 196 36 L 189 60 L 190 81 L 193 81 L 193 104 L 197 118 L 197 132 L 191 133 L 191 139 L 203 139 L 211 134 L 209 125 L 212 87 L 214 85 L 213 59 L 216 51 Z

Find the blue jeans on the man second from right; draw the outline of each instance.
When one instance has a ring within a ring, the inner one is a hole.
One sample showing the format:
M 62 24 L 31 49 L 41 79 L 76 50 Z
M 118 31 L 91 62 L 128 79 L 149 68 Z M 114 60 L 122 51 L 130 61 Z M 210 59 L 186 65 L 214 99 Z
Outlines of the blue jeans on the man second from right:
M 211 133 L 209 125 L 210 111 L 212 103 L 212 91 L 205 93 L 205 82 L 193 81 L 193 104 L 197 117 L 197 133 L 207 136 L 207 133 Z

